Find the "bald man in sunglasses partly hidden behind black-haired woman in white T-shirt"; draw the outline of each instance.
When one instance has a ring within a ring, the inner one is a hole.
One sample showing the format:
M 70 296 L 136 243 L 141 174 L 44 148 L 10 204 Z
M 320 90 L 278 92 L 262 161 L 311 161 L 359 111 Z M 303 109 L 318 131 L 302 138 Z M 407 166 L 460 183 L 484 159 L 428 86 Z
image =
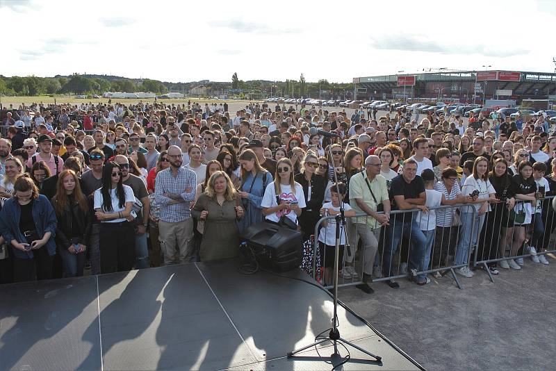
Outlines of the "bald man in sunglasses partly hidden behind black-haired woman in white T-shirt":
M 135 258 L 137 269 L 149 267 L 149 249 L 147 247 L 147 226 L 149 225 L 149 194 L 145 182 L 138 176 L 129 173 L 129 160 L 127 156 L 120 154 L 114 157 L 115 163 L 120 165 L 122 170 L 122 181 L 126 186 L 130 186 L 136 201 L 133 203 L 133 210 L 136 211 L 135 217 L 131 223 L 135 230 Z M 140 203 L 138 202 L 140 201 Z

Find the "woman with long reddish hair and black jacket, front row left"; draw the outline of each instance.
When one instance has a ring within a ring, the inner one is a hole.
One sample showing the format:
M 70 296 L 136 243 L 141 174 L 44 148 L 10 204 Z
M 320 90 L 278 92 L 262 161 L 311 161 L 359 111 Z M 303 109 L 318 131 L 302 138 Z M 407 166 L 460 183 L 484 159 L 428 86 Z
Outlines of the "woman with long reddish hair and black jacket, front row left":
M 87 198 L 81 192 L 79 178 L 73 170 L 63 170 L 57 186 L 51 202 L 58 218 L 56 245 L 62 256 L 63 275 L 81 277 L 91 229 Z

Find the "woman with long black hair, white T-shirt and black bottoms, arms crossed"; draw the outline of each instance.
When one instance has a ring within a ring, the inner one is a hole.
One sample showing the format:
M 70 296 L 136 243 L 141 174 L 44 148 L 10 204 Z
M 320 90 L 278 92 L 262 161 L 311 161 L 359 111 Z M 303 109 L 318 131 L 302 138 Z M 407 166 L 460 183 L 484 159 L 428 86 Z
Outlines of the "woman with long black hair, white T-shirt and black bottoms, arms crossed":
M 102 187 L 95 190 L 95 215 L 101 222 L 101 272 L 131 270 L 135 262 L 135 232 L 129 222 L 135 196 L 122 183 L 122 170 L 108 162 L 102 170 Z M 132 215 L 133 216 L 133 215 Z

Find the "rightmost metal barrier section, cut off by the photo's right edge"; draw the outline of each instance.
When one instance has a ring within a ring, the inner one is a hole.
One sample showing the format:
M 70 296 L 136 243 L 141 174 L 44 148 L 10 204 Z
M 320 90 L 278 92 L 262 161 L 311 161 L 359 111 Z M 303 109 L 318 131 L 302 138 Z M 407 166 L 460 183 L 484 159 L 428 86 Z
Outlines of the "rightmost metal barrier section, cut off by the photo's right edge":
M 554 198 L 537 199 L 538 207 L 530 201 L 517 201 L 512 210 L 521 217 L 512 218 L 505 204 L 491 206 L 480 243 L 475 249 L 473 266 L 484 268 L 494 282 L 489 266 L 512 269 L 513 265 L 515 269 L 516 264 L 523 265 L 525 258 L 541 263 L 539 258 L 543 260 L 546 259 L 544 255 L 556 253 L 556 241 L 550 239 L 556 227 L 556 213 L 552 206 Z

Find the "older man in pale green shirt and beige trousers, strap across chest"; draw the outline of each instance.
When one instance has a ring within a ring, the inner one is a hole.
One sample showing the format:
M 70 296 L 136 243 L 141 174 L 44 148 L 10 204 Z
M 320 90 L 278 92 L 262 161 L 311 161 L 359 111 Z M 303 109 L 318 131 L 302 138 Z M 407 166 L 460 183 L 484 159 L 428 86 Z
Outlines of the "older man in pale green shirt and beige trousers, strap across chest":
M 386 179 L 380 175 L 382 163 L 380 158 L 370 155 L 365 160 L 365 171 L 358 172 L 350 179 L 350 206 L 357 214 L 366 214 L 366 217 L 357 217 L 354 222 L 347 224 L 347 236 L 350 242 L 351 254 L 345 254 L 345 267 L 342 274 L 344 278 L 358 277 L 357 272 L 363 274 L 363 283 L 357 288 L 368 294 L 373 293 L 369 283 L 372 281 L 373 265 L 378 249 L 380 227 L 387 225 L 390 220 L 390 199 Z M 384 213 L 378 213 L 378 211 Z M 353 261 L 357 252 L 357 244 L 361 239 L 363 252 L 360 256 L 361 267 L 355 272 Z

